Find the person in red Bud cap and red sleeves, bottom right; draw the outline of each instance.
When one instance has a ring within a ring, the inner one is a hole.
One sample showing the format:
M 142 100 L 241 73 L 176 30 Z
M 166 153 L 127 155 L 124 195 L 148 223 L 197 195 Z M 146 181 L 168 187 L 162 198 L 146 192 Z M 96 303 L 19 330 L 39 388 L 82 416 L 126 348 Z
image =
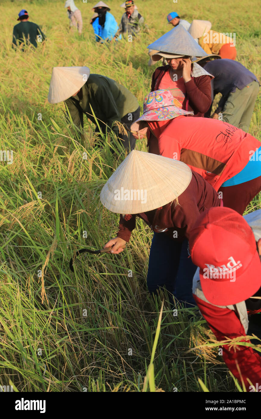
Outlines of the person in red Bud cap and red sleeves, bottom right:
M 248 346 L 250 341 L 245 335 L 251 335 L 249 329 L 254 326 L 250 317 L 249 328 L 248 314 L 261 311 L 261 263 L 257 251 L 261 210 L 244 218 L 233 209 L 209 209 L 191 229 L 189 248 L 193 262 L 199 266 L 193 279 L 199 310 L 218 341 L 238 341 L 238 345 L 222 345 L 224 361 L 247 391 L 255 391 L 261 379 L 261 358 Z

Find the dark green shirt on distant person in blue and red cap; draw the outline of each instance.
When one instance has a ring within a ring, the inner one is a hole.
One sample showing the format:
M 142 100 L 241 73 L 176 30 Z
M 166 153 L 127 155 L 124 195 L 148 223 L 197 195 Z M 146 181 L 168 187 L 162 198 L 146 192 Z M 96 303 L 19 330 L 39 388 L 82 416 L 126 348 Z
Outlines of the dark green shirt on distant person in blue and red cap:
M 24 38 L 27 44 L 33 44 L 37 48 L 38 44 L 45 39 L 45 35 L 36 23 L 20 22 L 13 28 L 13 46 L 24 43 Z

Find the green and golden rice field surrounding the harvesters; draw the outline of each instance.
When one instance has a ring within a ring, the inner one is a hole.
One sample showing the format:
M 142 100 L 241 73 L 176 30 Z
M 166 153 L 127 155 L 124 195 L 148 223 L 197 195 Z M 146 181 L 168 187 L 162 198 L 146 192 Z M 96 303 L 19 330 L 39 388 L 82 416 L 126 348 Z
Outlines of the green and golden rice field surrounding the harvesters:
M 146 47 L 169 29 L 171 11 L 235 32 L 238 61 L 261 80 L 260 2 L 137 0 L 149 31 L 102 45 L 89 23 L 95 3 L 75 0 L 81 37 L 69 32 L 63 1 L 1 3 L 0 150 L 13 150 L 13 163 L 0 162 L 0 385 L 19 392 L 241 391 L 197 308 L 177 304 L 173 316 L 163 294 L 148 294 L 152 233 L 141 221 L 124 252 L 79 256 L 70 271 L 75 250 L 101 248 L 117 231 L 118 216 L 103 208 L 99 193 L 124 152 L 113 155 L 109 137 L 93 147 L 88 119 L 84 140 L 75 141 L 63 103 L 51 105 L 47 95 L 52 67 L 87 65 L 126 86 L 142 106 L 155 69 L 147 67 Z M 109 1 L 118 23 L 120 3 Z M 47 35 L 35 52 L 11 48 L 21 8 Z M 258 140 L 260 117 L 259 94 L 249 130 Z M 145 151 L 146 142 L 136 148 Z M 247 212 L 258 208 L 260 196 Z

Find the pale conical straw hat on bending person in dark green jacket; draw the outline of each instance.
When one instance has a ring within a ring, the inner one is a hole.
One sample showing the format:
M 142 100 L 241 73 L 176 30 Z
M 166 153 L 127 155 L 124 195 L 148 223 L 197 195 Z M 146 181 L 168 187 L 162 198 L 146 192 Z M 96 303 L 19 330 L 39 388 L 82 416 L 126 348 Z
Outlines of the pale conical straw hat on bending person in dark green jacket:
M 88 67 L 54 67 L 49 87 L 49 103 L 65 101 L 86 83 L 90 75 Z

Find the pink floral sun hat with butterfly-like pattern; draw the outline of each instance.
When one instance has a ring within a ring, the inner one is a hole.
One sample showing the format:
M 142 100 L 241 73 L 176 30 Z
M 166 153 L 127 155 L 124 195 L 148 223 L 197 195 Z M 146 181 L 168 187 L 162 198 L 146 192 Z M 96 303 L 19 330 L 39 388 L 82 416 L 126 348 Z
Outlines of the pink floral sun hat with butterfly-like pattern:
M 194 115 L 194 112 L 184 111 L 181 107 L 169 90 L 150 92 L 143 101 L 143 115 L 133 122 L 131 130 L 139 131 L 142 121 L 167 121 L 181 115 Z

